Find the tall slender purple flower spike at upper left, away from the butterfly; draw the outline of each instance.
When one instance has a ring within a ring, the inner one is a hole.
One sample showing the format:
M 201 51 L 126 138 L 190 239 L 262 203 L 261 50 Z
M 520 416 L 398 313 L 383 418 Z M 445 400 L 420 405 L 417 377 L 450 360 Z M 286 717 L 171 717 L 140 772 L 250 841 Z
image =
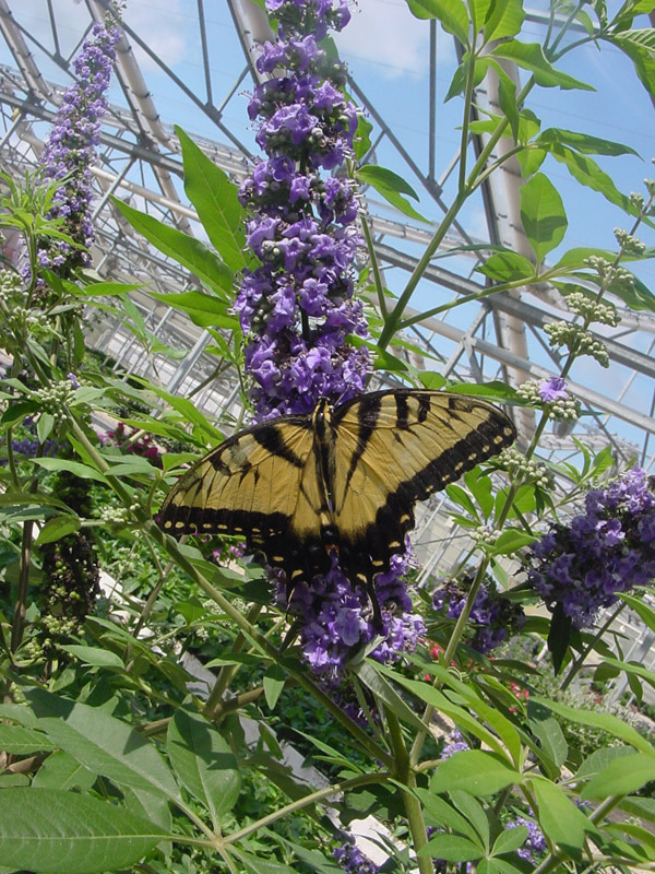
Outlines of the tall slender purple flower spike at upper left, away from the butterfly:
M 120 38 L 116 26 L 96 23 L 90 39 L 74 62 L 78 81 L 63 95 L 63 101 L 44 146 L 41 164 L 44 179 L 58 181 L 49 218 L 64 218 L 66 232 L 84 248 L 73 248 L 59 240 L 48 241 L 39 250 L 41 267 L 61 269 L 88 267 L 88 247 L 95 234 L 91 220 L 93 200 L 91 165 L 100 138 L 100 120 L 107 111 L 107 91 L 116 57 L 115 45 Z

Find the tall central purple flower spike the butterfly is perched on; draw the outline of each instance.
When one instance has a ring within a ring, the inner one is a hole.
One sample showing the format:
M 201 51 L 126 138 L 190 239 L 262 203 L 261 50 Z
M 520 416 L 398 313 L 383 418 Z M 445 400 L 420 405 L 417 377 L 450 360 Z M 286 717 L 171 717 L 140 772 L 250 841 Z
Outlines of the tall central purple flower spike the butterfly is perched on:
M 248 246 L 260 263 L 243 273 L 236 300 L 259 422 L 310 412 L 321 398 L 336 403 L 359 394 L 368 366 L 366 347 L 347 342 L 348 334 L 367 335 L 353 294 L 358 202 L 341 172 L 353 154 L 357 114 L 343 92 L 344 66 L 319 46 L 330 27 L 347 24 L 349 11 L 345 0 L 266 0 L 266 8 L 278 38 L 262 47 L 258 69 L 270 78 L 249 105 L 266 157 L 239 192 Z M 394 605 L 383 611 L 385 640 L 373 653 L 382 660 L 415 647 L 422 630 L 402 580 L 406 568 L 407 558 L 397 556 L 377 580 L 380 603 Z M 369 599 L 353 589 L 336 556 L 329 574 L 295 589 L 289 604 L 281 580 L 278 601 L 300 618 L 306 659 L 325 680 L 376 635 Z

